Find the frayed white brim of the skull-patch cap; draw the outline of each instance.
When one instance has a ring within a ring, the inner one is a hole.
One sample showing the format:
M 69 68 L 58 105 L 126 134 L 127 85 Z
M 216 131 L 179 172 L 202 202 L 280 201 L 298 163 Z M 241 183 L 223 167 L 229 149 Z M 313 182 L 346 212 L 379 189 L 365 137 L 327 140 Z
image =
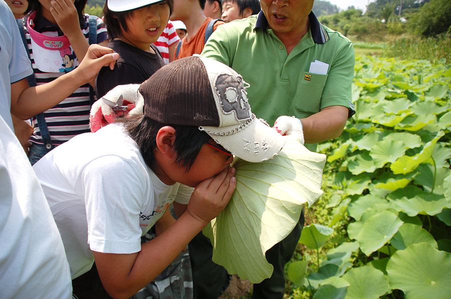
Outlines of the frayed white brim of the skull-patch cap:
M 234 134 L 219 135 L 221 132 L 233 131 L 236 127 L 204 126 L 203 129 L 217 143 L 249 162 L 271 159 L 285 144 L 284 136 L 258 118 Z

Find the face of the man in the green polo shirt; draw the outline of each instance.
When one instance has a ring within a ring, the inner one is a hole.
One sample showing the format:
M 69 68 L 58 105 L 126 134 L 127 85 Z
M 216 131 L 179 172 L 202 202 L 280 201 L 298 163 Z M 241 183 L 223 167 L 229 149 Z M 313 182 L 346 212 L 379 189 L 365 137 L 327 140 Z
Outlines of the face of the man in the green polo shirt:
M 276 35 L 304 32 L 314 0 L 260 0 L 260 6 Z

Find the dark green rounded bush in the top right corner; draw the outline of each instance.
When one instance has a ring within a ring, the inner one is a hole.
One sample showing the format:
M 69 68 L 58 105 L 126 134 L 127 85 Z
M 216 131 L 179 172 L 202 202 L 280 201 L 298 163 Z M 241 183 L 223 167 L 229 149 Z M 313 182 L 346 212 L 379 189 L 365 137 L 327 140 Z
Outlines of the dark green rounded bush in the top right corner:
M 416 34 L 424 37 L 446 32 L 451 26 L 451 1 L 431 0 L 412 15 L 409 24 Z

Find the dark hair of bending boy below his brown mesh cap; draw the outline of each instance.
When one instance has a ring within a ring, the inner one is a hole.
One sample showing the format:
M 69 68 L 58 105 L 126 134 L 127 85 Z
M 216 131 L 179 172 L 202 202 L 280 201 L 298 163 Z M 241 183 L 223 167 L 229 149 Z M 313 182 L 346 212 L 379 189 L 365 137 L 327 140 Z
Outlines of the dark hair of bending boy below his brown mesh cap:
M 143 114 L 122 117 L 117 122 L 123 123 L 130 137 L 136 142 L 147 166 L 154 172 L 160 169 L 155 161 L 153 151 L 156 149 L 156 135 L 158 130 L 170 124 L 163 124 Z M 175 128 L 174 150 L 176 152 L 175 162 L 180 167 L 185 167 L 189 171 L 194 163 L 200 148 L 211 137 L 197 126 L 190 125 L 170 125 Z

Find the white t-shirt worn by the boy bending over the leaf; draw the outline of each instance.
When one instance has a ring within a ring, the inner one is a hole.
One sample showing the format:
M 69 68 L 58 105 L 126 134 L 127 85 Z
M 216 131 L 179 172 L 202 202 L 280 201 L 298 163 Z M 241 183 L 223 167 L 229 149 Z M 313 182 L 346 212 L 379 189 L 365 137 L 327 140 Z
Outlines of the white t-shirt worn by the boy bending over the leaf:
M 33 168 L 60 229 L 72 278 L 91 268 L 91 250 L 140 251 L 141 236 L 171 205 L 179 186 L 164 184 L 147 167 L 119 124 L 75 136 Z

